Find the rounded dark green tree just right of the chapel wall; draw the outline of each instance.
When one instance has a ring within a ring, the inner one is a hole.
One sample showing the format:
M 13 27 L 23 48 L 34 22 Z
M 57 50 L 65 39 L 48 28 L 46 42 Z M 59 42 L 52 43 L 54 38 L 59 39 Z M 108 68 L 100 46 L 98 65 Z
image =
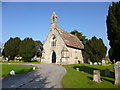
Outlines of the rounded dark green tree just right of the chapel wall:
M 103 40 L 101 38 L 97 39 L 94 36 L 92 37 L 92 39 L 87 41 L 85 45 L 85 51 L 90 61 L 99 62 L 105 57 L 107 47 L 104 45 Z

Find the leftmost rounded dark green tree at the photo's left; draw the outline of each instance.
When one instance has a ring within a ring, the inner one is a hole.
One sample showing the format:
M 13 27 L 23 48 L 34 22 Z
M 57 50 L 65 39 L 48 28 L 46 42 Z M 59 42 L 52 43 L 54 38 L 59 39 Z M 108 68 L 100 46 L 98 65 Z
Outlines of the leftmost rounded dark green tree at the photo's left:
M 8 57 L 8 60 L 13 60 L 14 57 L 18 54 L 20 38 L 10 38 L 4 45 L 3 55 Z

